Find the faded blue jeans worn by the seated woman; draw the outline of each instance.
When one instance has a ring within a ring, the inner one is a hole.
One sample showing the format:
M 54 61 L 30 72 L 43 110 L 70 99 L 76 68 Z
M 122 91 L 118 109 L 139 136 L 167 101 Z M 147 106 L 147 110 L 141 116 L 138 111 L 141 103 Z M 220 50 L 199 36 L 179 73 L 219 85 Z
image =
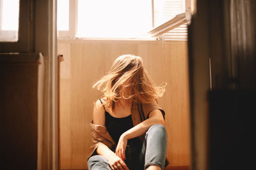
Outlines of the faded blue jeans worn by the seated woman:
M 129 145 L 125 150 L 125 164 L 130 170 L 147 169 L 148 166 L 165 167 L 167 148 L 166 129 L 161 124 L 152 125 L 146 132 L 141 145 Z M 88 159 L 89 170 L 111 170 L 108 160 L 101 155 L 94 155 Z

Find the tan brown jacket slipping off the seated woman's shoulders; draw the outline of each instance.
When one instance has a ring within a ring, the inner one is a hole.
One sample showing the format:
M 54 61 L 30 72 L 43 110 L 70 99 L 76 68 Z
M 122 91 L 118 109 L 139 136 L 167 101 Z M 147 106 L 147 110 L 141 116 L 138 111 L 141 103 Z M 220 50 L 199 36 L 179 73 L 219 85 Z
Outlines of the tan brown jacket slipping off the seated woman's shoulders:
M 153 101 L 152 103 L 147 104 L 139 104 L 139 103 L 133 103 L 131 108 L 131 116 L 132 116 L 132 122 L 133 125 L 138 125 L 140 122 L 143 122 L 143 120 L 148 118 L 148 114 L 153 111 L 159 109 L 163 117 L 165 115 L 164 110 L 159 107 L 156 101 Z M 95 151 L 95 149 L 101 144 L 104 143 L 106 146 L 108 146 L 111 150 L 115 149 L 116 143 L 113 141 L 111 136 L 109 135 L 107 129 L 103 125 L 95 125 L 93 122 L 90 123 L 92 127 L 92 142 L 93 145 L 89 149 L 89 157 L 92 155 L 92 153 Z M 145 135 L 139 136 L 139 139 L 143 141 Z

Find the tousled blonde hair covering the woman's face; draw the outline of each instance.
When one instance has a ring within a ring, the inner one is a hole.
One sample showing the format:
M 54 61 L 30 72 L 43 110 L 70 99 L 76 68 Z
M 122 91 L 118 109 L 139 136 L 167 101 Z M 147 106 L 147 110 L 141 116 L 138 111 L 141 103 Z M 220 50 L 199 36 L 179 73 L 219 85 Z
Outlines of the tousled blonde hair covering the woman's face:
M 121 55 L 114 62 L 108 74 L 103 76 L 93 88 L 104 92 L 105 108 L 112 111 L 115 102 L 120 98 L 131 99 L 135 103 L 150 103 L 163 96 L 165 87 L 156 87 L 143 67 L 141 57 L 135 55 Z M 127 88 L 129 94 L 124 94 Z M 120 93 L 122 92 L 122 93 Z

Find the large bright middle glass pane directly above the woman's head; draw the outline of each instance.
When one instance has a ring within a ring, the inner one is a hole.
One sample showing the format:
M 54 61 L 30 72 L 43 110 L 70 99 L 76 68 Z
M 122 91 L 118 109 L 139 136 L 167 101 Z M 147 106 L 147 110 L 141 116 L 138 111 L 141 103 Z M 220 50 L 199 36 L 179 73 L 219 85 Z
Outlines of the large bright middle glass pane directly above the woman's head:
M 152 29 L 151 0 L 79 0 L 77 37 L 145 38 Z

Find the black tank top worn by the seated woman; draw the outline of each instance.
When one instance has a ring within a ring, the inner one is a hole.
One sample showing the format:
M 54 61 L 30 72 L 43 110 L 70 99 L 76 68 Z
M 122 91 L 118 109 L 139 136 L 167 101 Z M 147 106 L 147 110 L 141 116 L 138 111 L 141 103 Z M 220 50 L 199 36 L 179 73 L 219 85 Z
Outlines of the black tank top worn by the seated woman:
M 101 99 L 100 102 L 102 103 Z M 113 138 L 117 145 L 120 136 L 133 127 L 132 116 L 129 115 L 123 118 L 116 118 L 112 117 L 108 111 L 105 110 L 105 126 L 111 138 Z M 130 145 L 131 143 L 140 143 L 140 141 L 138 138 L 132 138 L 127 141 L 127 145 Z

